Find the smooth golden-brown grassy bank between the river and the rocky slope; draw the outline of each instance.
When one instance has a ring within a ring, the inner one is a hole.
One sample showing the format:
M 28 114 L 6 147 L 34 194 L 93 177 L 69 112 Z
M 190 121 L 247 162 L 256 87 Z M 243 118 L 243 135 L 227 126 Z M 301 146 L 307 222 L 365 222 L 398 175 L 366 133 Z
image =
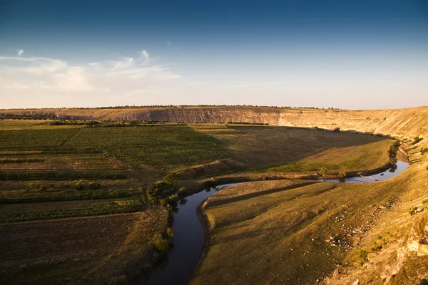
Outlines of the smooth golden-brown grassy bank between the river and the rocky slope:
M 362 185 L 318 182 L 250 198 L 243 191 L 272 186 L 260 181 L 222 190 L 215 196 L 220 203 L 205 203 L 211 239 L 191 284 L 312 284 L 334 271 L 355 241 L 396 207 L 409 175 Z M 236 192 L 242 194 L 228 198 Z

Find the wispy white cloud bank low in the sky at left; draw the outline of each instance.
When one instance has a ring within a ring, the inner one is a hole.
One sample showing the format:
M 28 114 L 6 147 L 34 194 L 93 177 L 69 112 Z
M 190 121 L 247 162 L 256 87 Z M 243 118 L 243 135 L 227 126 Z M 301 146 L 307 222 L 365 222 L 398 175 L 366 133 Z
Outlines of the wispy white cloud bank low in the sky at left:
M 0 56 L 0 94 L 7 96 L 0 98 L 8 98 L 2 107 L 83 106 L 88 102 L 108 105 L 113 100 L 113 105 L 126 105 L 117 100 L 129 94 L 162 93 L 183 83 L 178 82 L 182 80 L 178 74 L 149 59 L 144 50 L 135 58 L 81 64 L 45 57 Z M 138 98 L 133 95 L 133 99 Z M 145 97 L 140 100 L 145 104 Z

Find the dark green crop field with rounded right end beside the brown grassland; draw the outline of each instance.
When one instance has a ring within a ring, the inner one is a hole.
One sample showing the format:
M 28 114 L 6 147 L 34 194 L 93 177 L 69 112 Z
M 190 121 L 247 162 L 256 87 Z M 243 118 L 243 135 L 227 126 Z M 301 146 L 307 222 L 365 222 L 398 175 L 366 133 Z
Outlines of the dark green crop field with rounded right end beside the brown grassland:
M 66 145 L 89 145 L 106 150 L 134 167 L 195 165 L 226 157 L 218 140 L 187 125 L 84 128 L 68 140 Z

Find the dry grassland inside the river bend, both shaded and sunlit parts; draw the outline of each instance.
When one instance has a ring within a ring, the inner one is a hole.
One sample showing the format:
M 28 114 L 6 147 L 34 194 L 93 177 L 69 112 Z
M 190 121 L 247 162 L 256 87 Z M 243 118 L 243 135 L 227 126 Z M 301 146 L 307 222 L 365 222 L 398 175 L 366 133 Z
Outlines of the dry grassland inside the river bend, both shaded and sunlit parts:
M 290 171 L 290 162 L 308 165 L 295 172 L 367 170 L 385 165 L 391 140 L 355 133 L 247 125 L 192 125 L 222 141 L 231 156 L 263 171 Z M 285 164 L 285 167 L 282 167 Z M 264 167 L 263 167 L 264 166 Z M 247 167 L 247 168 L 248 168 Z M 315 168 L 314 168 L 315 167 Z

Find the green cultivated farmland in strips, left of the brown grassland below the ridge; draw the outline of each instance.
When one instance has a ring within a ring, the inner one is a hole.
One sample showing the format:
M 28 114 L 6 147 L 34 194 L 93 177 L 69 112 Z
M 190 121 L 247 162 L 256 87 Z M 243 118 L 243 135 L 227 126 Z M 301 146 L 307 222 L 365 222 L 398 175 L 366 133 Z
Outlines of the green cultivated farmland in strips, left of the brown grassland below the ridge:
M 105 180 L 143 175 L 153 181 L 175 167 L 228 157 L 218 140 L 186 125 L 54 127 L 1 130 L 1 160 L 44 161 L 4 163 L 0 180 Z

